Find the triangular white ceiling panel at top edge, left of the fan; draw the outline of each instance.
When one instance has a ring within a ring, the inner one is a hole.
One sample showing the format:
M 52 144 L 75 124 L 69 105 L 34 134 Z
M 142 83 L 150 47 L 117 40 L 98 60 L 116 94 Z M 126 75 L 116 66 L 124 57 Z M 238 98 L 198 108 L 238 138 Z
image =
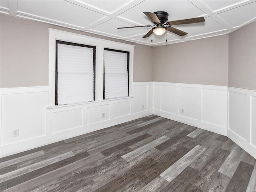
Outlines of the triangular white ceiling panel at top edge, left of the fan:
M 99 10 L 102 10 L 104 12 L 108 12 L 111 14 L 111 13 L 116 12 L 120 8 L 126 6 L 127 4 L 129 4 L 132 1 L 131 0 L 130 1 L 128 1 L 128 0 L 121 0 L 121 1 L 117 1 L 117 0 L 100 0 L 100 1 L 80 0 L 80 2 L 85 3 L 94 8 L 98 8 Z M 106 6 L 106 3 L 108 6 Z

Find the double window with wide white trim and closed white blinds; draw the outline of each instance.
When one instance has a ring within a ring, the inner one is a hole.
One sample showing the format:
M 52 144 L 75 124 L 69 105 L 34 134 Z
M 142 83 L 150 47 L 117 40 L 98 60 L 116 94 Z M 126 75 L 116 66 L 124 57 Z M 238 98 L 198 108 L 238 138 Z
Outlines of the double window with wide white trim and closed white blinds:
M 134 45 L 56 29 L 48 30 L 49 108 L 69 107 L 88 101 L 97 101 L 99 104 L 106 102 L 105 98 L 132 96 Z M 111 63 L 108 64 L 108 53 L 114 54 L 117 60 L 122 59 L 122 62 L 112 63 L 116 66 L 111 66 Z

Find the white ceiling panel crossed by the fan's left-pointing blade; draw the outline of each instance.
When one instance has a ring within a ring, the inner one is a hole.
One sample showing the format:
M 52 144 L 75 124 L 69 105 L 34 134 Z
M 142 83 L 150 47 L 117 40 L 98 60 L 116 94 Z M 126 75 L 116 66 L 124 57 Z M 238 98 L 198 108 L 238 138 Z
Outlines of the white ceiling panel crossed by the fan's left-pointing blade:
M 122 38 L 128 38 L 138 34 L 146 34 L 150 30 L 150 29 L 147 30 L 145 28 L 117 29 L 118 27 L 129 27 L 129 26 L 134 26 L 134 25 L 112 18 L 111 20 L 108 20 L 92 28 L 92 30 L 93 32 L 99 32 L 99 33 L 102 32 L 108 35 L 112 34 L 113 36 L 119 36 Z

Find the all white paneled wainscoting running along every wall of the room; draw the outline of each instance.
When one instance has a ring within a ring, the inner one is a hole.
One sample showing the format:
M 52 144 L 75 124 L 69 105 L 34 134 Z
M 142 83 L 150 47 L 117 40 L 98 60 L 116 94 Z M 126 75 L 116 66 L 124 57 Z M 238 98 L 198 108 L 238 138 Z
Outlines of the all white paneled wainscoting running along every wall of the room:
M 2 88 L 0 156 L 156 114 L 226 135 L 256 158 L 256 91 L 166 82 L 132 88 L 128 98 L 53 107 L 48 86 Z M 12 137 L 15 129 L 20 136 Z

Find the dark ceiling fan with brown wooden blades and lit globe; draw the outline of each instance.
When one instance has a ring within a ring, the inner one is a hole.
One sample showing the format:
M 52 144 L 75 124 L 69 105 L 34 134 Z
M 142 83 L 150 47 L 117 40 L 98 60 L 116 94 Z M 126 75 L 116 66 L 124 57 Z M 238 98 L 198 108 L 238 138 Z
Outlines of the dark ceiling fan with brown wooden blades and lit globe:
M 177 28 L 172 27 L 172 25 L 181 25 L 181 24 L 191 24 L 191 23 L 200 23 L 204 22 L 204 17 L 176 20 L 176 21 L 168 21 L 169 14 L 164 11 L 157 11 L 154 13 L 151 12 L 143 12 L 153 23 L 154 25 L 144 25 L 144 26 L 133 26 L 133 27 L 119 27 L 118 29 L 126 29 L 126 28 L 136 28 L 136 27 L 153 27 L 143 38 L 149 37 L 152 33 L 156 35 L 162 35 L 166 32 L 166 30 L 175 33 L 179 36 L 184 36 L 188 33 L 179 30 Z M 165 23 L 166 22 L 166 23 Z M 154 27 L 155 26 L 155 27 Z

